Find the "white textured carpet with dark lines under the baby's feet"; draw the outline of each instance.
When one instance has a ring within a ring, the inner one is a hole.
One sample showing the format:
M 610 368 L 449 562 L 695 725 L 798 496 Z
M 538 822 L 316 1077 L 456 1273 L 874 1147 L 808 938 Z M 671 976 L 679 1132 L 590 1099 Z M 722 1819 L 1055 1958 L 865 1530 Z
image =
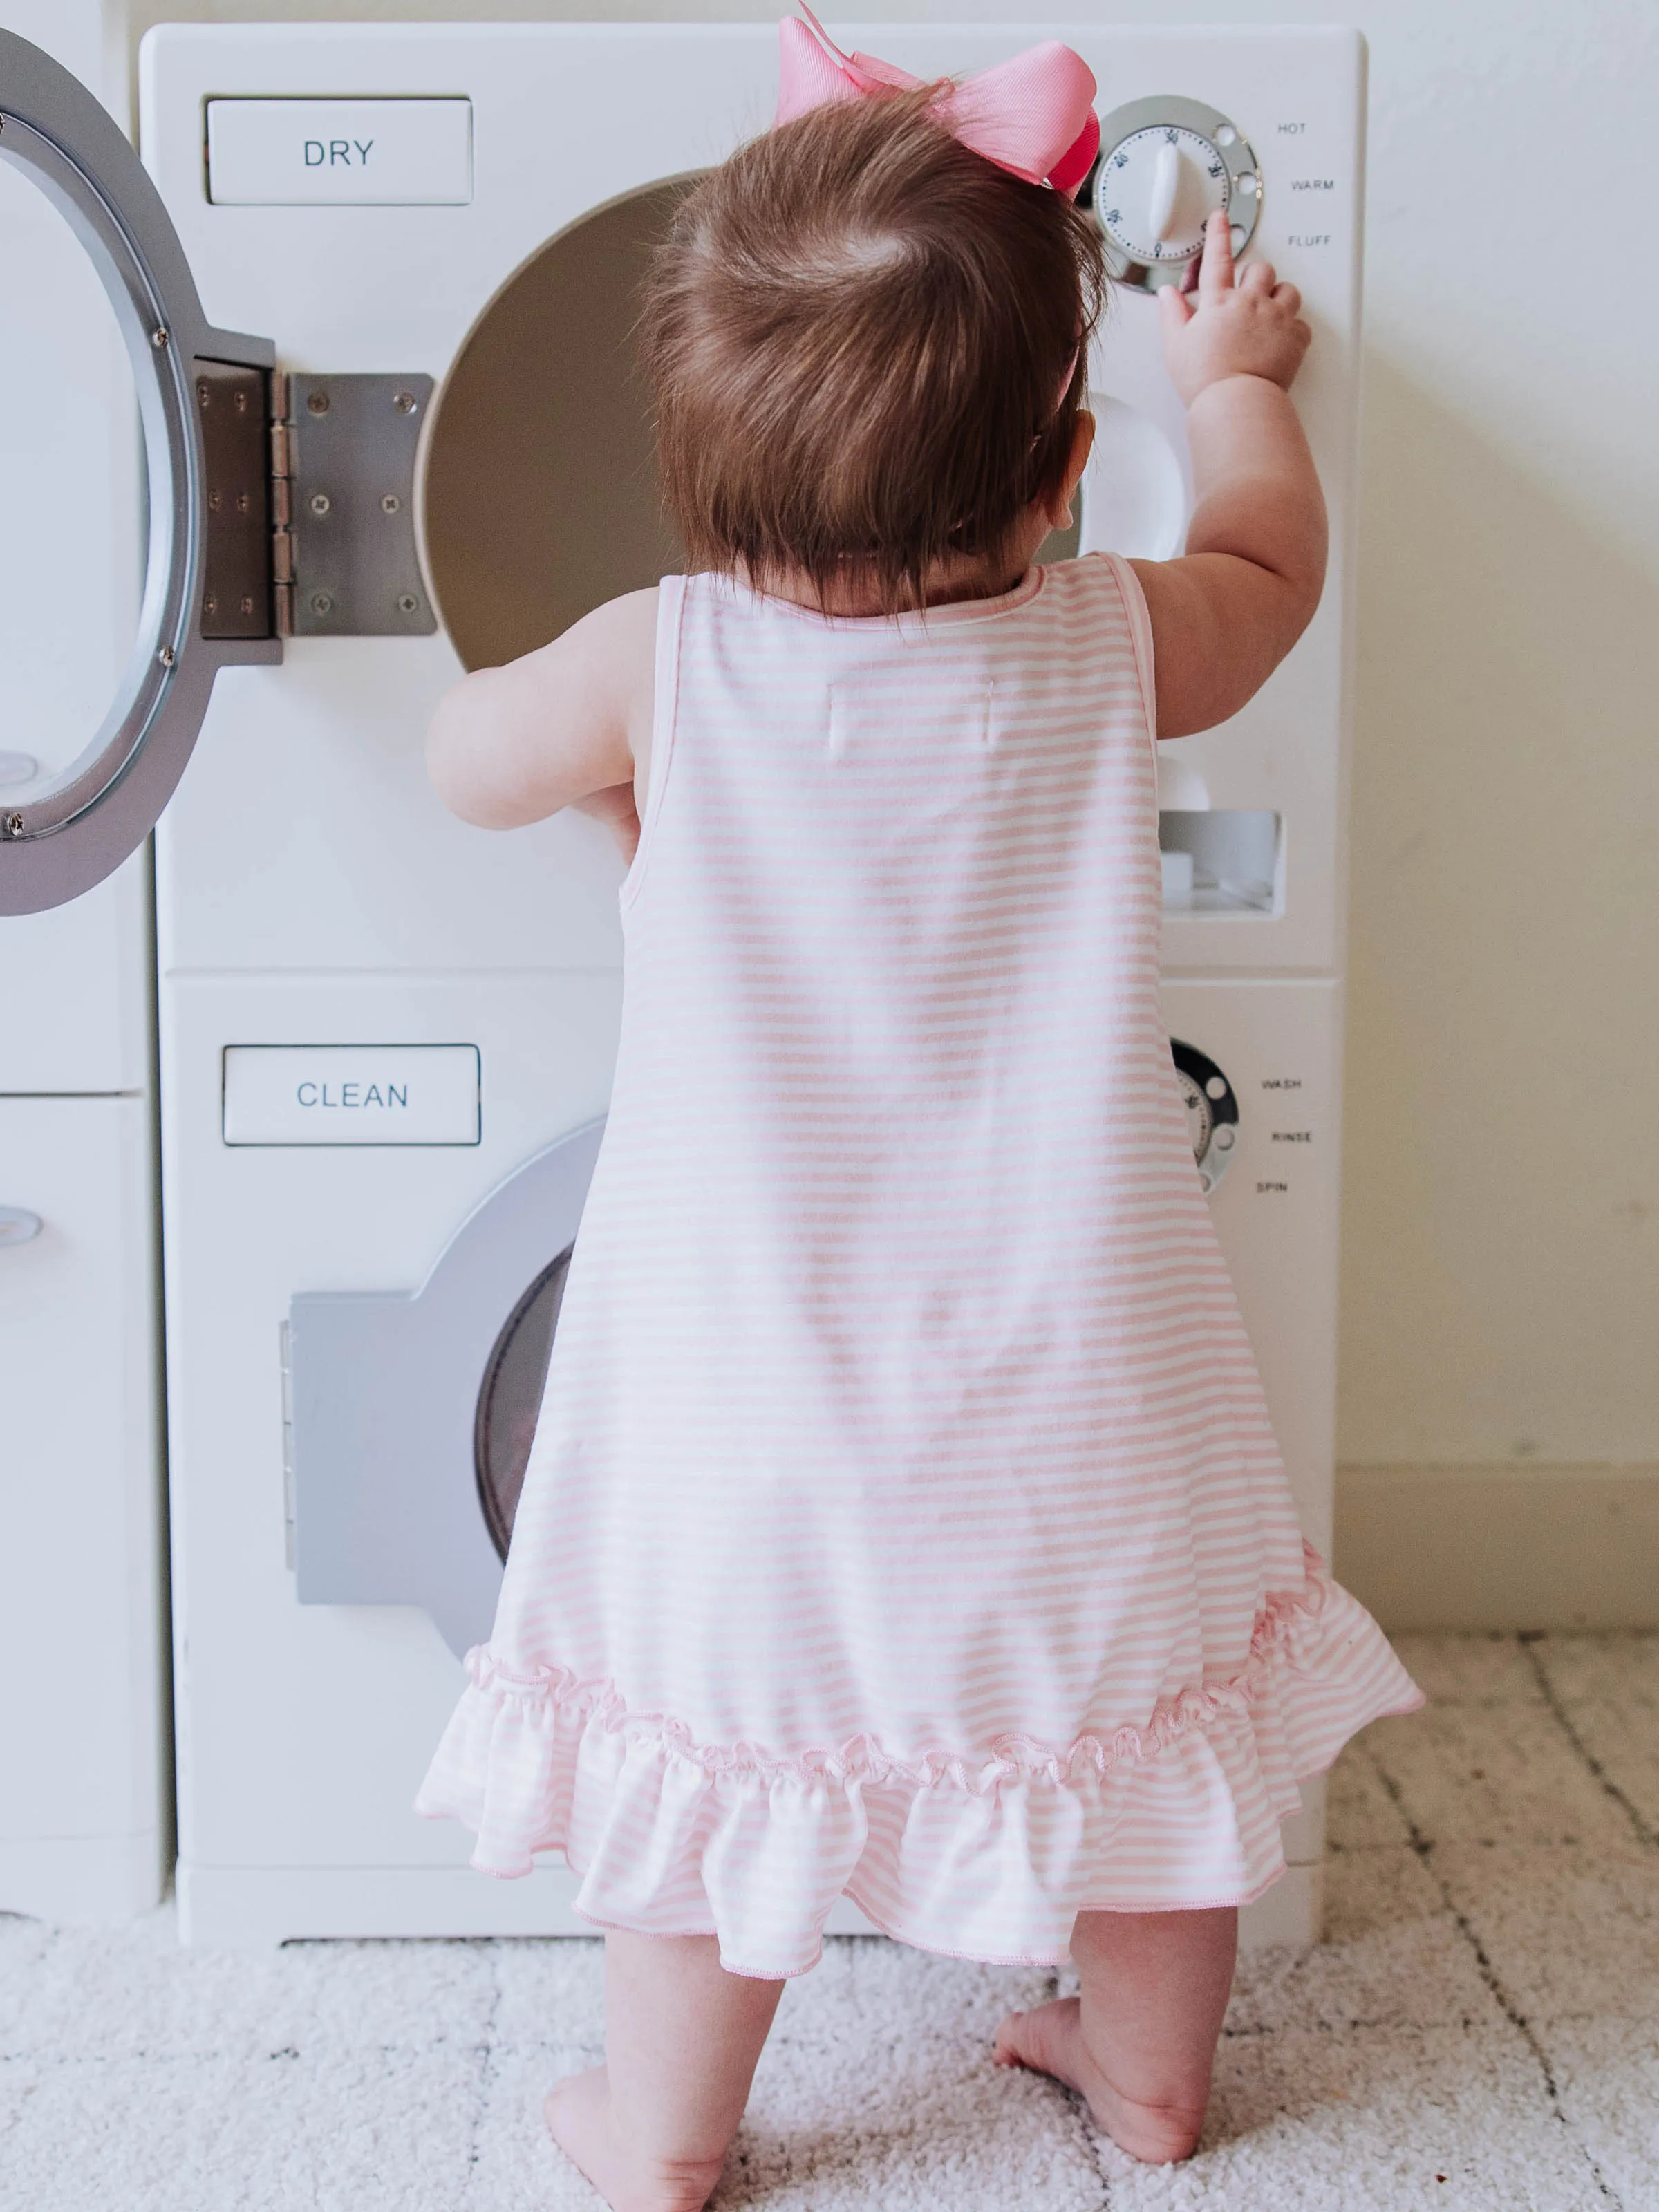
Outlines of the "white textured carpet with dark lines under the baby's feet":
M 1206 2148 L 1135 2168 L 995 2073 L 1006 1973 L 841 1940 L 723 2212 L 1659 2212 L 1659 1639 L 1407 1639 L 1332 1792 L 1329 1942 L 1241 1973 Z M 540 2097 L 591 1942 L 179 1951 L 0 1920 L 4 2212 L 593 2212 Z

